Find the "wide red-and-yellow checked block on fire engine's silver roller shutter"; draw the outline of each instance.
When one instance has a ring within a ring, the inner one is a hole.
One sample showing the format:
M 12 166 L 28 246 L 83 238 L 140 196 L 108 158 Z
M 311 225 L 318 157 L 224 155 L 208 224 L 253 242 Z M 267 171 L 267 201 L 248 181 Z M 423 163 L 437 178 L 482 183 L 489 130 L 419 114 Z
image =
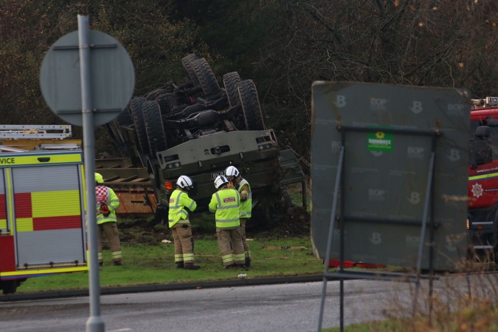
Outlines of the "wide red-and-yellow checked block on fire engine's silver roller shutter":
M 81 228 L 78 190 L 15 194 L 17 232 Z

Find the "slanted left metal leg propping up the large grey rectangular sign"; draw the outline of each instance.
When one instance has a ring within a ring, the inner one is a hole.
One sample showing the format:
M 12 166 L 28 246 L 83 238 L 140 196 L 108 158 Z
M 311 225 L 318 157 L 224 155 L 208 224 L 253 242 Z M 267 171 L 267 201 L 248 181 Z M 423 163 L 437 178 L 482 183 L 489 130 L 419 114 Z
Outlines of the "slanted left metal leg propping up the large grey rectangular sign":
M 321 303 L 320 303 L 320 315 L 318 317 L 318 328 L 317 331 L 321 331 L 321 323 L 323 320 L 323 307 L 325 306 L 325 296 L 327 294 L 327 273 L 329 271 L 330 255 L 332 251 L 332 239 L 334 237 L 334 227 L 335 218 L 337 211 L 337 200 L 339 195 L 339 187 L 341 183 L 341 173 L 342 173 L 342 161 L 344 159 L 344 146 L 341 146 L 341 151 L 339 154 L 339 162 L 337 163 L 337 174 L 335 178 L 335 188 L 334 188 L 334 202 L 332 203 L 332 213 L 330 215 L 330 227 L 329 227 L 329 237 L 327 241 L 327 253 L 325 255 L 325 268 L 323 270 L 323 288 L 321 291 Z M 342 283 L 342 279 L 341 279 Z M 342 305 L 341 305 L 342 308 Z

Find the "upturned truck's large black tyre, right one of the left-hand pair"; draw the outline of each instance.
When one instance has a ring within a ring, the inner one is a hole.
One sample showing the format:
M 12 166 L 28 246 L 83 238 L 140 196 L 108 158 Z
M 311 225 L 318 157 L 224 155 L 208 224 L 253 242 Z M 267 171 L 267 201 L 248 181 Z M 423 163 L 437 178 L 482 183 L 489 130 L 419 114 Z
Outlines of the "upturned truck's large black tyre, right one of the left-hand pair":
M 151 154 L 155 157 L 158 151 L 168 148 L 166 133 L 161 118 L 161 109 L 156 100 L 146 101 L 143 104 L 143 118 L 145 120 L 148 145 Z

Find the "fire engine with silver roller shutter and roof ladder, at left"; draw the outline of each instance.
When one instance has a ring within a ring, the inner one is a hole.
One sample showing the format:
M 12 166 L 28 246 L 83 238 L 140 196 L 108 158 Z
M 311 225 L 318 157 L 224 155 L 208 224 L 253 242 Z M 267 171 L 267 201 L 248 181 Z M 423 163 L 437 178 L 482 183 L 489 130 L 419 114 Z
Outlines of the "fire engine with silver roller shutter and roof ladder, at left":
M 88 270 L 83 153 L 68 125 L 0 126 L 0 289 Z

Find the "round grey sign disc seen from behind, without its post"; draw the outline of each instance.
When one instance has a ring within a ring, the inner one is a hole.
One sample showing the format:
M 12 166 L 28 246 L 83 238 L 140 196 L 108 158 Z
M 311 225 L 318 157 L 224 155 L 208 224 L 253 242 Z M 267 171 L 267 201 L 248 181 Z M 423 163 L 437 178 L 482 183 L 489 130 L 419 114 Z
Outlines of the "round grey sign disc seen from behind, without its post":
M 90 30 L 90 75 L 93 124 L 111 121 L 130 100 L 135 86 L 133 63 L 113 37 Z M 40 87 L 48 107 L 64 121 L 82 125 L 78 31 L 59 38 L 40 69 Z

